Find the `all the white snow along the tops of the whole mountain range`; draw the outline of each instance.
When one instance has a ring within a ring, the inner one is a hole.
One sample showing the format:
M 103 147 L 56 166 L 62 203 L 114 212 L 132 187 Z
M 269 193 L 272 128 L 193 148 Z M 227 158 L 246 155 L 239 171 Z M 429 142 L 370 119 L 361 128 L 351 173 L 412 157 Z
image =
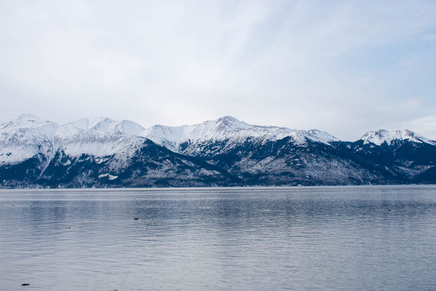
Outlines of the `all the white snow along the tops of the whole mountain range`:
M 250 125 L 231 116 L 208 120 L 195 125 L 178 127 L 155 125 L 144 129 L 139 124 L 110 118 L 83 118 L 64 125 L 43 121 L 31 114 L 22 114 L 13 121 L 0 125 L 0 164 L 11 164 L 29 159 L 38 153 L 47 160 L 57 150 L 70 156 L 81 154 L 104 157 L 131 153 L 148 138 L 158 145 L 189 155 L 199 153 L 211 143 L 226 146 L 241 144 L 248 139 L 256 144 L 290 137 L 298 146 L 308 141 L 330 145 L 340 141 L 317 129 L 297 130 L 275 126 Z M 436 142 L 410 130 L 369 131 L 361 137 L 364 144 L 390 144 L 394 140 L 408 140 L 435 146 Z

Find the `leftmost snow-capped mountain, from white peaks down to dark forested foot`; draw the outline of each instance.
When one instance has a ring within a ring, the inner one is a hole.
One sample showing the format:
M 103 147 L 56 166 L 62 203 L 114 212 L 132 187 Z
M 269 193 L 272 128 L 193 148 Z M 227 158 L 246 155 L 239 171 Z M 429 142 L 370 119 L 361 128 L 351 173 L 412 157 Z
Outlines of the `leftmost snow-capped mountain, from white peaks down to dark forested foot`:
M 80 119 L 64 125 L 23 114 L 0 126 L 3 187 L 46 185 L 221 185 L 226 171 L 140 136 L 131 121 Z

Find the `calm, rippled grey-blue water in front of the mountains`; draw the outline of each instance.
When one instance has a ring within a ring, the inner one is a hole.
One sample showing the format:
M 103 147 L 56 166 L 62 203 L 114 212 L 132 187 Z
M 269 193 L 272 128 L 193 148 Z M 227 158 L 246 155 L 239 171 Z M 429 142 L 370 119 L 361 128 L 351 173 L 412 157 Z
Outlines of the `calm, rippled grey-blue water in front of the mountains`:
M 436 186 L 0 190 L 0 290 L 416 291 L 435 278 Z

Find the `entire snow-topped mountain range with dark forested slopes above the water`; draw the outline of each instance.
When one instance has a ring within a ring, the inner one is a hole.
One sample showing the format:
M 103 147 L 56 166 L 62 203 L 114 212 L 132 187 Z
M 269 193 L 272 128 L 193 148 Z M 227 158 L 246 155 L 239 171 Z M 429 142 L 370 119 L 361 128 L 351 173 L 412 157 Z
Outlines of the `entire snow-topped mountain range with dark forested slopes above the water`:
M 99 117 L 31 114 L 0 125 L 1 188 L 436 183 L 436 142 L 410 130 L 355 142 L 231 116 L 148 129 Z

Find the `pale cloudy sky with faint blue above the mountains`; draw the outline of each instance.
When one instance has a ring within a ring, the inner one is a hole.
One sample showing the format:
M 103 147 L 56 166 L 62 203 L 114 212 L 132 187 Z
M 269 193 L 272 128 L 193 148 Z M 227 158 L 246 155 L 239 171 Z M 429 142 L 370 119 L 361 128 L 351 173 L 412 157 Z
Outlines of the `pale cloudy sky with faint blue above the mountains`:
M 436 139 L 436 1 L 0 0 L 0 123 L 231 115 Z

